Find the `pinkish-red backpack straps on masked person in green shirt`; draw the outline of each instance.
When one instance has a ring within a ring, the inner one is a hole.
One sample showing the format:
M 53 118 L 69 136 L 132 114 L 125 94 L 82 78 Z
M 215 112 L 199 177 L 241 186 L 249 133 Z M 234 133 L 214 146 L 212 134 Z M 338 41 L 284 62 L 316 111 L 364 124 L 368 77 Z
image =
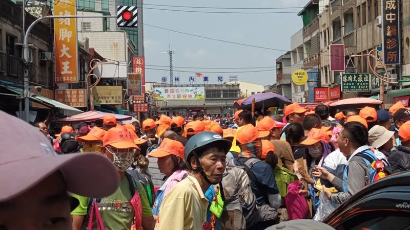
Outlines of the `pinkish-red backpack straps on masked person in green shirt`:
M 136 171 L 134 171 L 134 172 L 136 172 Z M 136 195 L 138 195 L 138 193 L 137 193 L 137 189 L 135 187 L 136 184 L 135 184 L 134 180 L 137 180 L 137 179 L 134 179 L 134 177 L 129 174 L 128 170 L 126 171 L 125 176 L 128 180 L 128 184 L 130 186 L 131 197 L 132 197 L 130 202 L 131 202 L 131 204 L 133 206 L 133 209 L 134 209 L 134 212 L 135 212 L 135 219 L 138 219 L 137 217 L 139 217 L 139 220 L 134 220 L 133 224 L 134 224 L 134 222 L 138 222 L 138 223 L 136 223 L 136 225 L 141 226 L 142 211 L 141 210 L 135 210 L 135 207 L 137 206 L 135 202 L 138 202 L 138 200 L 135 200 L 135 197 L 136 197 Z M 137 197 L 139 197 L 139 195 Z M 81 225 L 81 230 L 88 230 L 88 224 L 89 224 L 90 216 L 91 216 L 91 207 L 92 207 L 93 203 L 100 203 L 100 202 L 101 202 L 101 198 L 90 198 L 90 200 L 88 201 L 88 205 L 87 205 L 87 215 L 84 216 L 83 224 Z M 139 203 L 140 202 L 141 202 L 141 200 L 139 200 Z M 141 205 L 139 205 L 139 206 L 141 206 Z

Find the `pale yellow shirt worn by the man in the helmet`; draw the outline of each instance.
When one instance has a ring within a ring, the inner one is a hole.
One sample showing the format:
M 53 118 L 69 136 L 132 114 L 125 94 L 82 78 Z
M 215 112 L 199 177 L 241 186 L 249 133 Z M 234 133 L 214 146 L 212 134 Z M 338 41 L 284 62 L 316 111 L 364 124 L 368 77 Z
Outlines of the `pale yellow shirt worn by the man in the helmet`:
M 191 174 L 181 180 L 162 201 L 155 229 L 202 229 L 209 201 Z

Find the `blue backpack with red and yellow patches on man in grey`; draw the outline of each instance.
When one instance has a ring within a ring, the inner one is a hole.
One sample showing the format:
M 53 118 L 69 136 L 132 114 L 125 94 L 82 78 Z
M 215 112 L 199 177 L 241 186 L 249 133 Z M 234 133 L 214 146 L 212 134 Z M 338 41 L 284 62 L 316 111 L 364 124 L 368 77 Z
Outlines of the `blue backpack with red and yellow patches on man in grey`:
M 364 163 L 367 165 L 369 177 L 370 177 L 369 185 L 387 176 L 386 172 L 384 171 L 384 163 L 381 160 L 377 159 L 376 155 L 373 153 L 371 149 L 364 150 L 356 154 L 355 156 L 362 157 Z M 347 173 L 348 173 L 348 164 L 345 166 L 344 172 L 343 172 L 343 191 L 344 192 L 348 192 Z

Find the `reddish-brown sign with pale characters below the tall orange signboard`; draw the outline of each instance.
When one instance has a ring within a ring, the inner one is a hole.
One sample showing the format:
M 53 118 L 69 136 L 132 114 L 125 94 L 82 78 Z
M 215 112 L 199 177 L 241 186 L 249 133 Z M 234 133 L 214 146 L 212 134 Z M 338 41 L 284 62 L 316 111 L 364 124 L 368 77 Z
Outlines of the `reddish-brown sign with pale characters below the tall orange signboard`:
M 71 107 L 87 107 L 87 90 L 56 89 L 55 100 Z

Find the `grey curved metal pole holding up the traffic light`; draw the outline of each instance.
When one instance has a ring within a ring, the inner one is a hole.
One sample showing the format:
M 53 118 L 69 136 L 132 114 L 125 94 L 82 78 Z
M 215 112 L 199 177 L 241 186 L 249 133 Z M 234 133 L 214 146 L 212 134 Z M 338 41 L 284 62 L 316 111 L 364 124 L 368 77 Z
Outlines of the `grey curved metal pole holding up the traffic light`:
M 23 1 L 23 6 L 24 6 L 24 1 Z M 23 8 L 24 9 L 24 8 Z M 54 19 L 54 18 L 108 18 L 108 17 L 117 17 L 116 15 L 101 15 L 101 16 L 87 16 L 87 15 L 61 15 L 61 16 L 55 16 L 55 15 L 49 15 L 49 16 L 43 16 L 40 18 L 37 18 L 35 21 L 30 24 L 30 26 L 27 28 L 26 33 L 24 34 L 24 41 L 23 41 L 23 59 L 26 62 L 28 57 L 29 57 L 29 34 L 31 29 L 40 21 L 44 19 Z M 23 28 L 24 30 L 24 28 Z M 25 64 L 25 63 L 24 63 Z M 23 91 L 23 98 L 24 98 L 24 114 L 25 114 L 25 120 L 27 123 L 30 122 L 29 120 L 29 114 L 30 114 L 30 101 L 29 101 L 30 93 L 29 93 L 29 72 L 27 68 L 24 68 L 24 91 Z

